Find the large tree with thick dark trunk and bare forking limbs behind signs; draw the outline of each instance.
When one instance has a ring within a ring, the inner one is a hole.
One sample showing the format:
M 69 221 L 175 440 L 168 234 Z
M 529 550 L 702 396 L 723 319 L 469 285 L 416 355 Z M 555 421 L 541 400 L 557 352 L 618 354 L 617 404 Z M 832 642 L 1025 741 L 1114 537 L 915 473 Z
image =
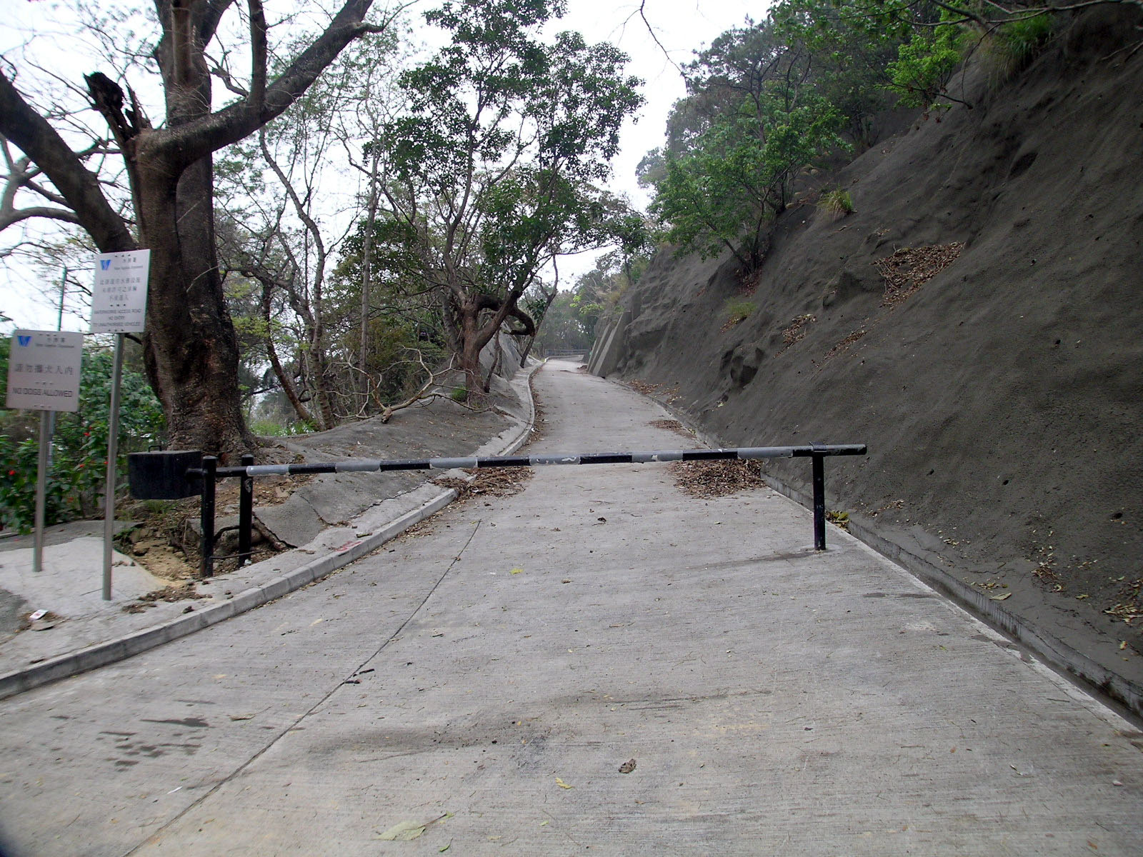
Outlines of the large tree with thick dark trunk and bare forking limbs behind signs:
M 157 0 L 158 66 L 165 121 L 102 72 L 85 77 L 126 165 L 134 219 L 109 202 L 61 131 L 0 72 L 0 135 L 55 186 L 103 253 L 151 250 L 144 337 L 149 381 L 174 447 L 234 454 L 249 448 L 240 408 L 238 341 L 223 296 L 215 247 L 213 153 L 248 137 L 288 109 L 350 41 L 384 30 L 365 22 L 371 0 L 347 0 L 271 78 L 270 26 L 262 0 L 247 0 L 249 72 L 239 80 L 211 63 L 208 47 L 233 0 Z M 237 99 L 215 110 L 213 77 Z

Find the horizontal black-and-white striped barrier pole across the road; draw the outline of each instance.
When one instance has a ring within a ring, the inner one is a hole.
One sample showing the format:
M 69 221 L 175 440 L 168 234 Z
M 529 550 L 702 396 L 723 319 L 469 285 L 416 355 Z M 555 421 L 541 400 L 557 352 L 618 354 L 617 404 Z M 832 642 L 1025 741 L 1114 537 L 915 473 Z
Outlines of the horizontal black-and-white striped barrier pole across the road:
M 682 449 L 644 452 L 581 452 L 574 455 L 493 456 L 488 458 L 421 458 L 415 460 L 357 458 L 325 464 L 257 464 L 218 467 L 216 478 L 303 475 L 309 473 L 373 473 L 402 470 L 453 470 L 454 467 L 537 467 L 554 464 L 650 464 L 654 462 L 711 462 L 719 459 L 809 458 L 813 456 L 865 455 L 864 443 L 810 443 L 799 447 L 743 447 L 737 449 Z

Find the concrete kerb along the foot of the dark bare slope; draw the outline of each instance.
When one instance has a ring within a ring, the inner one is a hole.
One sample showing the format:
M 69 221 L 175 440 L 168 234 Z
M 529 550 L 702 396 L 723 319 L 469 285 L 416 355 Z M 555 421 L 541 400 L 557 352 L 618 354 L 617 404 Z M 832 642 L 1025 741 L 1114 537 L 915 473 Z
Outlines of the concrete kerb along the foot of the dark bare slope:
M 685 415 L 679 414 L 673 408 L 669 410 L 685 423 L 682 419 Z M 710 436 L 706 432 L 694 426 L 689 427 L 695 432 L 695 436 L 706 446 L 721 446 L 718 439 Z M 762 480 L 791 502 L 805 508 L 813 508 L 813 497 L 805 491 L 800 491 L 769 474 L 764 473 Z M 1081 683 L 1088 691 L 1094 690 L 1102 694 L 1110 702 L 1125 708 L 1129 715 L 1136 719 L 1143 718 L 1143 687 L 1138 683 L 1111 672 L 1063 640 L 1025 622 L 1010 610 L 1006 610 L 985 593 L 977 592 L 941 567 L 873 529 L 850 519 L 846 531 L 942 595 L 951 599 L 976 618 L 1025 647 L 1056 672 Z

